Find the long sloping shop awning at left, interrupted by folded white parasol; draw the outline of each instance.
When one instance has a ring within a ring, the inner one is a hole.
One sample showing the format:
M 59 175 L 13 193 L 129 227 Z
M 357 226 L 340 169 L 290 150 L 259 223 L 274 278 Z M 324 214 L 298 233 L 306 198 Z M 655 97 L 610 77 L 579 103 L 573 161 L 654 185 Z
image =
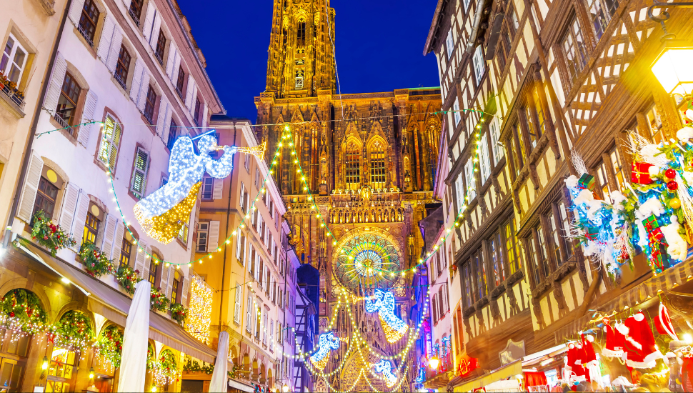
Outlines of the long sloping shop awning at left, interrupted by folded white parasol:
M 34 244 L 19 242 L 19 249 L 32 259 L 46 265 L 59 276 L 69 279 L 75 287 L 86 294 L 89 311 L 100 314 L 122 327 L 125 326 L 131 302 L 126 294 L 109 287 L 99 279 L 91 277 L 69 262 L 52 257 L 51 254 L 34 246 Z M 149 312 L 149 338 L 203 362 L 214 363 L 216 358 L 216 352 L 213 349 L 192 337 L 176 322 L 170 321 L 156 312 Z

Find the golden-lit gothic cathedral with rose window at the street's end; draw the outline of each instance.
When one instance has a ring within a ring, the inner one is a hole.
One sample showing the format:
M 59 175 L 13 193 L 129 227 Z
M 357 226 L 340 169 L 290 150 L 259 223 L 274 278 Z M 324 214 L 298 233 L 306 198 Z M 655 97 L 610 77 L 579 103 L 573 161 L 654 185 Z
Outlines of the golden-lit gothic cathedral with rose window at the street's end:
M 282 155 L 274 176 L 289 207 L 291 242 L 301 262 L 320 272 L 320 333 L 330 327 L 345 342 L 354 334 L 369 342 L 341 345 L 325 377 L 314 376 L 314 389 L 363 392 L 370 390 L 363 379 L 342 384 L 357 380 L 364 356 L 375 362 L 399 354 L 409 340 L 388 342 L 378 313 L 357 299 L 386 289 L 394 314 L 412 324 L 412 273 L 400 272 L 416 266 L 424 246 L 418 224 L 433 202 L 440 90 L 339 94 L 329 0 L 274 0 L 273 13 L 266 88 L 255 98 L 264 125 L 257 136 L 274 151 L 288 125 L 296 147 L 295 157 Z

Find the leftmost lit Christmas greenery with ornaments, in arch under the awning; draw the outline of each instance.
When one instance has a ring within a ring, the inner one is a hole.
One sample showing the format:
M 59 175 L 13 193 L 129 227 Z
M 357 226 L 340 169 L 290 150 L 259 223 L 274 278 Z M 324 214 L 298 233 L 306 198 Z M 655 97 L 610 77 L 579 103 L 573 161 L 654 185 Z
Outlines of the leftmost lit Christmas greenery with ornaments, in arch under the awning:
M 39 297 L 26 289 L 12 289 L 0 299 L 3 314 L 0 321 L 13 332 L 36 334 L 46 327 L 48 317 Z

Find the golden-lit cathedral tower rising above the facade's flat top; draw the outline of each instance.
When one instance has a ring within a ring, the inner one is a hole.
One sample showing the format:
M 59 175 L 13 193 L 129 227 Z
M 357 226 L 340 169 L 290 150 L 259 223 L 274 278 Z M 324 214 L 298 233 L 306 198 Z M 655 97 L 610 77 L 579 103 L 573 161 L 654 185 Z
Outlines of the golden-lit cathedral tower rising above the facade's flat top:
M 274 0 L 265 91 L 276 98 L 334 91 L 334 9 L 329 0 Z

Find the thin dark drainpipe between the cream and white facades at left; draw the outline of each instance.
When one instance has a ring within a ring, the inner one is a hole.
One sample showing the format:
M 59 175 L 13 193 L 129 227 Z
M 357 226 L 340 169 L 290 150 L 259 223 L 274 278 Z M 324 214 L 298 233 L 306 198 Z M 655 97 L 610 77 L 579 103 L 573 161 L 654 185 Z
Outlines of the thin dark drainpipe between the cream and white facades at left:
M 36 109 L 34 110 L 34 121 L 31 122 L 31 129 L 29 134 L 26 135 L 26 148 L 24 149 L 24 159 L 21 162 L 21 169 L 19 171 L 19 179 L 17 179 L 16 189 L 14 190 L 14 200 L 12 201 L 12 208 L 9 212 L 9 217 L 7 217 L 7 225 L 5 227 L 5 233 L 2 238 L 2 247 L 4 249 L 9 245 L 10 239 L 12 237 L 12 222 L 14 222 L 14 214 L 17 212 L 17 205 L 19 204 L 19 196 L 21 195 L 21 185 L 24 184 L 24 179 L 26 178 L 26 168 L 29 166 L 29 157 L 31 154 L 27 154 L 31 151 L 31 147 L 34 146 L 34 139 L 36 134 L 36 128 L 39 125 L 39 116 L 41 115 L 41 108 L 44 100 L 46 99 L 46 94 L 48 93 L 48 86 L 51 84 L 49 80 L 53 67 L 55 66 L 55 59 L 58 56 L 58 44 L 60 43 L 61 36 L 63 35 L 63 30 L 65 28 L 65 22 L 67 21 L 67 14 L 69 12 L 72 0 L 67 0 L 65 6 L 65 11 L 63 13 L 63 20 L 60 22 L 60 27 L 58 29 L 58 34 L 56 35 L 53 44 L 53 53 L 51 53 L 51 60 L 48 63 L 48 68 L 46 68 L 46 74 L 44 75 L 44 86 L 41 86 L 41 96 L 39 96 L 39 101 L 36 102 Z

